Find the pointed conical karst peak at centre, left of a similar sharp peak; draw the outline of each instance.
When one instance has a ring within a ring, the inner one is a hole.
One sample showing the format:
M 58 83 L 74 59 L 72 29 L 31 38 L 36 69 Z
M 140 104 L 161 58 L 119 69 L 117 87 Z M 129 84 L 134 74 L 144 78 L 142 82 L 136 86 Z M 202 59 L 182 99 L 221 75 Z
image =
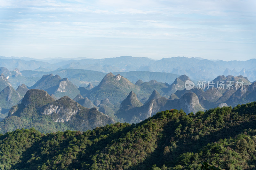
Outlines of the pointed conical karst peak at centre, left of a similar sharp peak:
M 130 110 L 135 107 L 140 107 L 143 104 L 138 100 L 136 94 L 131 91 L 130 94 L 124 99 L 124 101 L 121 103 L 119 111 L 126 111 Z

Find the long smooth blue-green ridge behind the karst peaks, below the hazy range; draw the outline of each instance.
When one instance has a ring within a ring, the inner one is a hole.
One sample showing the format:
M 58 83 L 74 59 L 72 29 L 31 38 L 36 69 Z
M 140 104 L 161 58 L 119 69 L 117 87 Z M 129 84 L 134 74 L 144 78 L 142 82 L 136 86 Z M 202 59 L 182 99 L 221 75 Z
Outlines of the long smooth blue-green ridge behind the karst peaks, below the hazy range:
M 6 67 L 0 67 L 0 74 L 4 74 L 8 78 L 8 81 L 12 84 L 13 88 L 17 88 L 22 83 L 27 86 L 33 86 L 43 75 L 46 74 L 58 74 L 62 78 L 68 78 L 77 87 L 86 87 L 90 83 L 96 86 L 100 83 L 106 73 L 83 70 L 83 69 L 58 69 L 55 71 L 19 71 L 15 68 L 15 71 L 9 71 Z M 18 73 L 17 73 L 18 72 Z M 172 73 L 160 73 L 149 71 L 131 71 L 131 72 L 117 72 L 113 74 L 122 74 L 128 80 L 136 82 L 141 79 L 142 81 L 156 80 L 158 82 L 167 82 L 171 84 L 179 75 Z

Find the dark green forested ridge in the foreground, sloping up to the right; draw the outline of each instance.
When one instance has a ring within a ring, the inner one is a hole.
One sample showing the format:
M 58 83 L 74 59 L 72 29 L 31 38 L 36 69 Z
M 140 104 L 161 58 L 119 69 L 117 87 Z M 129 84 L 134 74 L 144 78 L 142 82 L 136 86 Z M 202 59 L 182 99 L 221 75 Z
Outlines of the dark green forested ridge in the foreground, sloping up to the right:
M 255 169 L 256 102 L 186 115 L 166 110 L 139 124 L 0 136 L 1 169 Z

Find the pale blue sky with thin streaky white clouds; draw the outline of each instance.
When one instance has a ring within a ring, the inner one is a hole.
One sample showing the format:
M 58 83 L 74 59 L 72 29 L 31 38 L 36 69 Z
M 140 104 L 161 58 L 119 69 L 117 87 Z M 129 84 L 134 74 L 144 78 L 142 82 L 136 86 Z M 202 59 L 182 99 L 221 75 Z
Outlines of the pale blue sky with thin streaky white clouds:
M 256 58 L 255 0 L 0 0 L 0 55 Z

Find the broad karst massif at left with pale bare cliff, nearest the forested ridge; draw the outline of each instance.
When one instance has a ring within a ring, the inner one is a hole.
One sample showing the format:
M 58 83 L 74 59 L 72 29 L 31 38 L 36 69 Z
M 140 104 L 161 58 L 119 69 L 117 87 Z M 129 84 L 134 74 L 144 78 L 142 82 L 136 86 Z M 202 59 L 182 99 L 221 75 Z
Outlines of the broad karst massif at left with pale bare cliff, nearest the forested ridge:
M 16 119 L 19 124 L 15 124 Z M 3 121 L 6 124 L 14 124 L 14 129 L 28 128 L 34 124 L 35 127 L 40 127 L 39 131 L 49 131 L 51 127 L 56 131 L 63 130 L 64 127 L 87 131 L 115 123 L 113 118 L 99 112 L 97 108 L 85 108 L 68 96 L 55 101 L 46 91 L 39 89 L 28 90 L 21 104 L 13 106 Z

